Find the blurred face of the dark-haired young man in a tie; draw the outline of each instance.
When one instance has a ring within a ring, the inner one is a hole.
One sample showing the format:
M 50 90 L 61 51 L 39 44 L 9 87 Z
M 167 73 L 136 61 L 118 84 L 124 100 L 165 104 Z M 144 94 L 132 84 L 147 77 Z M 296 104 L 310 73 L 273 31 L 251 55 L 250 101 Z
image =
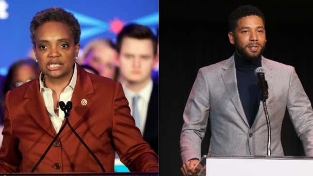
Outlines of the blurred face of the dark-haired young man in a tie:
M 156 64 L 150 39 L 125 37 L 122 40 L 118 64 L 123 79 L 129 82 L 145 82 L 151 78 Z

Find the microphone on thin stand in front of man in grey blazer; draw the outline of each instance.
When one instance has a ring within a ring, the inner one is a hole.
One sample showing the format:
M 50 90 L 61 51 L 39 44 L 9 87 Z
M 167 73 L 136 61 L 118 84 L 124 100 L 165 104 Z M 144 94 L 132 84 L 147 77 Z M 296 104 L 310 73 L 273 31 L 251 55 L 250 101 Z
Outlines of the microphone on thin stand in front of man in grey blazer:
M 261 100 L 263 103 L 263 108 L 264 108 L 264 113 L 265 113 L 265 118 L 266 118 L 266 124 L 267 124 L 267 156 L 271 156 L 271 136 L 272 136 L 272 131 L 271 131 L 271 123 L 269 120 L 268 112 L 267 112 L 267 107 L 266 107 L 266 99 L 268 98 L 268 84 L 267 81 L 265 80 L 265 70 L 262 67 L 258 67 L 254 71 L 255 75 L 257 76 L 259 80 L 259 85 L 261 87 Z

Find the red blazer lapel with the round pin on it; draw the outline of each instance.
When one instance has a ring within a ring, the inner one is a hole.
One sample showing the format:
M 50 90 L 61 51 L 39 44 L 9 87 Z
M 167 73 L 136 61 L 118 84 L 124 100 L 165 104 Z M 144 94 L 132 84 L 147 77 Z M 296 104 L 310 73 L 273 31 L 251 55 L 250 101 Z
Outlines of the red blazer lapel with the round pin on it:
M 73 128 L 75 128 L 78 122 L 81 121 L 83 117 L 85 117 L 86 112 L 88 112 L 88 110 L 91 108 L 92 101 L 90 99 L 90 96 L 94 93 L 94 88 L 90 76 L 86 71 L 82 69 L 79 64 L 76 65 L 77 80 L 71 98 L 73 107 L 68 117 L 68 121 Z M 63 121 L 63 124 L 64 123 L 65 120 Z M 64 131 L 60 134 L 60 138 L 64 136 L 68 131 L 70 131 L 70 128 L 64 128 Z

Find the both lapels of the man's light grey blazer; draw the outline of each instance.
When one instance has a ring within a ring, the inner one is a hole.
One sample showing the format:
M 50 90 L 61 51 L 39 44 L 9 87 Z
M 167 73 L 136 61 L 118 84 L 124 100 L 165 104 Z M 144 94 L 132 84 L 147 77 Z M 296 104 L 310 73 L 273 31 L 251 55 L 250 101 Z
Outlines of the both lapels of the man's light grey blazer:
M 261 62 L 262 62 L 262 67 L 265 69 L 265 79 L 268 82 L 271 82 L 269 80 L 272 80 L 272 66 L 270 65 L 268 59 L 264 58 L 263 56 L 262 56 Z M 225 60 L 222 63 L 223 63 L 222 69 L 225 71 L 221 73 L 221 76 L 226 86 L 226 89 L 231 97 L 231 101 L 233 105 L 235 106 L 237 112 L 240 114 L 242 120 L 245 122 L 247 127 L 249 127 L 247 117 L 244 112 L 244 108 L 242 107 L 239 93 L 238 93 L 234 55 L 232 55 L 229 59 Z M 270 83 L 268 86 L 269 86 L 269 91 L 270 91 L 271 89 Z M 261 105 L 262 104 L 260 103 L 260 106 Z M 260 111 L 260 107 L 259 107 L 259 111 Z M 258 114 L 259 112 L 257 113 L 257 115 Z

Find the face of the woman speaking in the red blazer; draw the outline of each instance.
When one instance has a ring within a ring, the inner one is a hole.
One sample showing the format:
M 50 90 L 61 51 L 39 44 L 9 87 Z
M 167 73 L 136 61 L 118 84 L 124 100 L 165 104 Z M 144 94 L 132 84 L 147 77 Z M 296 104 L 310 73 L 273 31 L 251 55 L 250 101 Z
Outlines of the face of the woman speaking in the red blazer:
M 50 21 L 36 30 L 33 50 L 40 70 L 49 79 L 72 76 L 74 59 L 79 48 L 79 44 L 74 44 L 74 37 L 65 23 Z

